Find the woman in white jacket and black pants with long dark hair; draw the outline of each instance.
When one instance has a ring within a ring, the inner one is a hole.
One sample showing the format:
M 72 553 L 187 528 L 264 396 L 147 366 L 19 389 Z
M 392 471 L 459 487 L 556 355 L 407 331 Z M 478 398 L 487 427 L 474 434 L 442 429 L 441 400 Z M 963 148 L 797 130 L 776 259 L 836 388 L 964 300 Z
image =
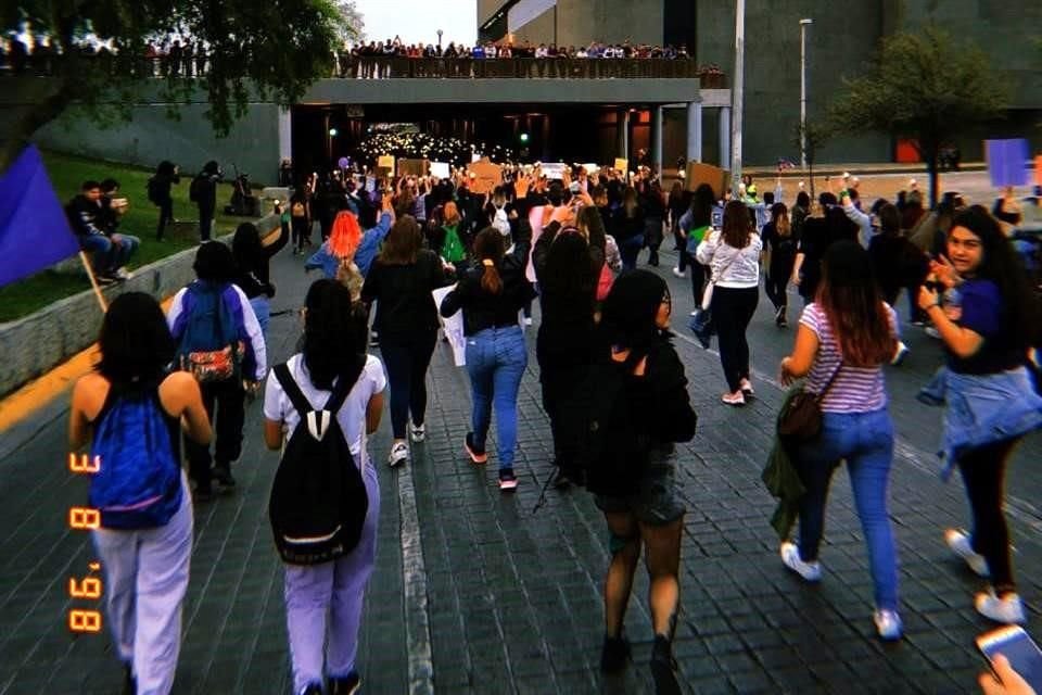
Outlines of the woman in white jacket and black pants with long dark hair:
M 724 207 L 724 225 L 698 244 L 696 258 L 712 271 L 713 299 L 710 308 L 720 340 L 720 364 L 727 380 L 727 405 L 745 405 L 754 391 L 749 381 L 749 341 L 746 329 L 760 300 L 760 251 L 763 242 L 741 201 Z

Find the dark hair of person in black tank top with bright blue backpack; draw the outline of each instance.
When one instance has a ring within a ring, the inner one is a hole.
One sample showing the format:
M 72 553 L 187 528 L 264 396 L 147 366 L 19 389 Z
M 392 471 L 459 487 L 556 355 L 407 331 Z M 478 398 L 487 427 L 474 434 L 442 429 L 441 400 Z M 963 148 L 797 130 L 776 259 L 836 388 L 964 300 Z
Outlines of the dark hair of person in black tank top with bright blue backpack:
M 155 383 L 174 359 L 174 338 L 151 294 L 127 292 L 109 306 L 98 337 L 96 367 L 117 384 Z

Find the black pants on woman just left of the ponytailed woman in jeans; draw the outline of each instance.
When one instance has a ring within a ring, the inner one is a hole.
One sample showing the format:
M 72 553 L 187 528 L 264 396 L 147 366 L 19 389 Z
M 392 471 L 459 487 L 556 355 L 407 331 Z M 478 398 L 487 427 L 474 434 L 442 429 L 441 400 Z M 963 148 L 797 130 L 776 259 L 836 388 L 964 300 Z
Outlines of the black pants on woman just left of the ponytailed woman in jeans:
M 434 354 L 437 331 L 386 333 L 380 331 L 380 353 L 391 382 L 391 429 L 394 439 L 405 439 L 409 414 L 415 425 L 427 415 L 427 368 Z

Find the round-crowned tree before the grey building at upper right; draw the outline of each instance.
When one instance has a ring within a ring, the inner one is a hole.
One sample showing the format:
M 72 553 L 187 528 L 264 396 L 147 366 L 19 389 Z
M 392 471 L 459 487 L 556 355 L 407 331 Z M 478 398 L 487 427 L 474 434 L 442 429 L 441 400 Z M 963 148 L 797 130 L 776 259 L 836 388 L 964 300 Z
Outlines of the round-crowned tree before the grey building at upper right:
M 1000 117 L 1007 90 L 987 54 L 927 26 L 885 38 L 868 73 L 844 80 L 847 92 L 829 110 L 840 129 L 882 130 L 916 143 L 937 204 L 940 149 L 968 127 Z

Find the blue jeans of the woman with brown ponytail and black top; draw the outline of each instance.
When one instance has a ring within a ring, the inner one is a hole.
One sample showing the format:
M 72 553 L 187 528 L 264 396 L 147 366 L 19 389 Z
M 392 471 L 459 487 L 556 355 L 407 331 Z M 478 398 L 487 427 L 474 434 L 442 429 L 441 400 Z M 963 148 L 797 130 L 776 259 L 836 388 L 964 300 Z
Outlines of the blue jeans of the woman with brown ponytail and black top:
M 474 444 L 478 448 L 485 447 L 495 403 L 500 470 L 513 468 L 513 450 L 518 443 L 518 388 L 528 364 L 529 351 L 520 326 L 486 328 L 467 338 Z

